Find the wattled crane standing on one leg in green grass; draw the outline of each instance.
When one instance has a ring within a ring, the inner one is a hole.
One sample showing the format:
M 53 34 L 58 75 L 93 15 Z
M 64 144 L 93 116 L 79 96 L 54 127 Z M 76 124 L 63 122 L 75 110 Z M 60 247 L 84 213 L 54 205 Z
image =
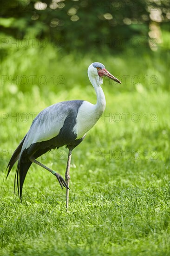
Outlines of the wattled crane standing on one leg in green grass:
M 121 83 L 100 62 L 93 62 L 88 67 L 87 73 L 96 92 L 96 104 L 84 100 L 73 100 L 62 101 L 45 108 L 35 117 L 29 131 L 15 149 L 7 165 L 7 177 L 15 162 L 18 161 L 14 178 L 14 190 L 16 190 L 17 183 L 21 202 L 26 174 L 34 163 L 55 175 L 62 189 L 65 187 L 66 209 L 68 209 L 72 150 L 84 140 L 86 133 L 96 124 L 105 111 L 105 94 L 101 88 L 103 77 Z M 37 158 L 47 151 L 62 146 L 68 148 L 65 180 L 59 173 L 37 161 Z

